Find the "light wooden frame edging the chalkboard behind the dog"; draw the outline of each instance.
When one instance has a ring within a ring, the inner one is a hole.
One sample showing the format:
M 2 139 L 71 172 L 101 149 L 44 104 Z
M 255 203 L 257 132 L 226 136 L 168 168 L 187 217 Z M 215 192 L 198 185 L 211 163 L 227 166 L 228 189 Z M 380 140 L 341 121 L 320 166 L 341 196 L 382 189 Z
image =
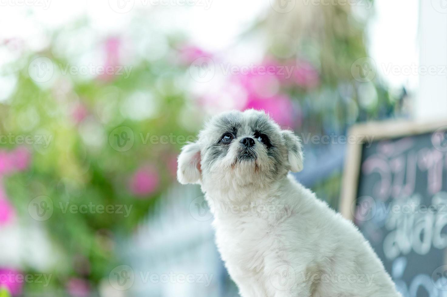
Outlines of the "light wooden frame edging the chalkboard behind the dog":
M 353 202 L 357 199 L 360 162 L 365 139 L 374 137 L 373 141 L 387 138 L 399 138 L 434 132 L 447 126 L 447 121 L 381 121 L 356 124 L 351 127 L 348 136 L 354 135 L 359 141 L 347 145 L 345 166 L 340 193 L 339 210 L 344 218 L 353 220 Z

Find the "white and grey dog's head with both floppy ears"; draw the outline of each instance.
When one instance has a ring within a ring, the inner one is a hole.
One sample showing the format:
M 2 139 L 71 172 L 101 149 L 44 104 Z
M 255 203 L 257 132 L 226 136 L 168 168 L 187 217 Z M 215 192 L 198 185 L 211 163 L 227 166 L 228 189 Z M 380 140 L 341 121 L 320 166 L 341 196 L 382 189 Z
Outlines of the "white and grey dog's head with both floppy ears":
M 177 178 L 205 188 L 265 186 L 303 168 L 300 140 L 257 110 L 221 113 L 182 148 Z

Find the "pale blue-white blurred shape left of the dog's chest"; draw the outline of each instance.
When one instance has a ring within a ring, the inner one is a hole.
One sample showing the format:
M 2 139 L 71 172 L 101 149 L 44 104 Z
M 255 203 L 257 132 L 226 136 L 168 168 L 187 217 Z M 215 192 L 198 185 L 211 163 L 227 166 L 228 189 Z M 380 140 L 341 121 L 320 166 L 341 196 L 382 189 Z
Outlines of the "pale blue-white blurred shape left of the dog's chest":
M 198 186 L 174 185 L 122 245 L 134 270 L 131 296 L 237 296 L 215 246 L 212 214 L 205 205 Z

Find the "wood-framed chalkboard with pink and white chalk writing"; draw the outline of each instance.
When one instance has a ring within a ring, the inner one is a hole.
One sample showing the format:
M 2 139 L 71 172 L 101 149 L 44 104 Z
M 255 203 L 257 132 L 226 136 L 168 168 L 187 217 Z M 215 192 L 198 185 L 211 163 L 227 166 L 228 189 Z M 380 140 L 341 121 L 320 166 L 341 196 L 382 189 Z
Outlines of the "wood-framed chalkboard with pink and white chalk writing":
M 340 209 L 404 297 L 447 297 L 447 123 L 355 126 Z

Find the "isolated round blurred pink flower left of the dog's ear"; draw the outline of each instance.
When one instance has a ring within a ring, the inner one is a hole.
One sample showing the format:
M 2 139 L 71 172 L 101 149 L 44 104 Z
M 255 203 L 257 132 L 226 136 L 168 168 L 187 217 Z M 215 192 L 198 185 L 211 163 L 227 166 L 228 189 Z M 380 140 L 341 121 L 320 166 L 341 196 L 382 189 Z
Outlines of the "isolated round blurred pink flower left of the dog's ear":
M 131 177 L 130 189 L 137 196 L 146 196 L 158 188 L 160 177 L 152 167 L 141 167 Z

